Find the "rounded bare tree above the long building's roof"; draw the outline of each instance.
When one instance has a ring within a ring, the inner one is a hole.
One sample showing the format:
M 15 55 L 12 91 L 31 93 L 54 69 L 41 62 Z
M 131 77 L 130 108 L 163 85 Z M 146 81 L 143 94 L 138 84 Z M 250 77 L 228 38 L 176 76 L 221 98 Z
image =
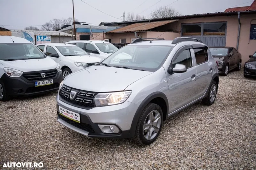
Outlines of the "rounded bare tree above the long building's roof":
M 165 18 L 179 15 L 179 11 L 176 11 L 174 8 L 168 6 L 159 7 L 150 13 L 151 18 Z

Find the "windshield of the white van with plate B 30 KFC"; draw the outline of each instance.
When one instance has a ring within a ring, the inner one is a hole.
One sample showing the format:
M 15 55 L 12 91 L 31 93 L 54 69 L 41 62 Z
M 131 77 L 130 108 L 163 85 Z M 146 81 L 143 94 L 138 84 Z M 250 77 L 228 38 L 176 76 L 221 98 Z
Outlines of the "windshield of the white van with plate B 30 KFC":
M 0 44 L 0 60 L 27 60 L 44 58 L 44 54 L 31 43 Z

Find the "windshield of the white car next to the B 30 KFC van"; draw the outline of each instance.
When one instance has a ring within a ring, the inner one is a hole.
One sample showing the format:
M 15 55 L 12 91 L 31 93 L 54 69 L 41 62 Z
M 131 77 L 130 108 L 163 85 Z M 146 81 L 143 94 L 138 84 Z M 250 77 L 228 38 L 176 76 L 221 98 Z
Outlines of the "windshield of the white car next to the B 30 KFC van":
M 64 56 L 89 55 L 82 48 L 77 46 L 55 46 Z

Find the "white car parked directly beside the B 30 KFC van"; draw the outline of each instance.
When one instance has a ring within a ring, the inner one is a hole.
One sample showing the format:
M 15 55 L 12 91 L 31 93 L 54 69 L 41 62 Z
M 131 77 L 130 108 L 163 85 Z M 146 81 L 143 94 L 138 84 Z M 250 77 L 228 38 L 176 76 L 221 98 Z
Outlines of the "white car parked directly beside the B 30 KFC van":
M 86 53 L 83 49 L 72 44 L 49 43 L 36 45 L 46 56 L 60 64 L 62 76 L 65 78 L 72 72 L 100 62 L 99 57 Z

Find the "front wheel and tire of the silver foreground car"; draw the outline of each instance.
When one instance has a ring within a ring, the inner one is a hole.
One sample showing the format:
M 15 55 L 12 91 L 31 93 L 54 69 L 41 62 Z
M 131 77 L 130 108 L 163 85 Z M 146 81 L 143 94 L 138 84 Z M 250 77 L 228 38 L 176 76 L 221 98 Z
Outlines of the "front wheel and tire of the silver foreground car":
M 141 112 L 133 140 L 141 145 L 152 144 L 159 136 L 162 125 L 163 111 L 161 107 L 155 103 L 148 103 Z

